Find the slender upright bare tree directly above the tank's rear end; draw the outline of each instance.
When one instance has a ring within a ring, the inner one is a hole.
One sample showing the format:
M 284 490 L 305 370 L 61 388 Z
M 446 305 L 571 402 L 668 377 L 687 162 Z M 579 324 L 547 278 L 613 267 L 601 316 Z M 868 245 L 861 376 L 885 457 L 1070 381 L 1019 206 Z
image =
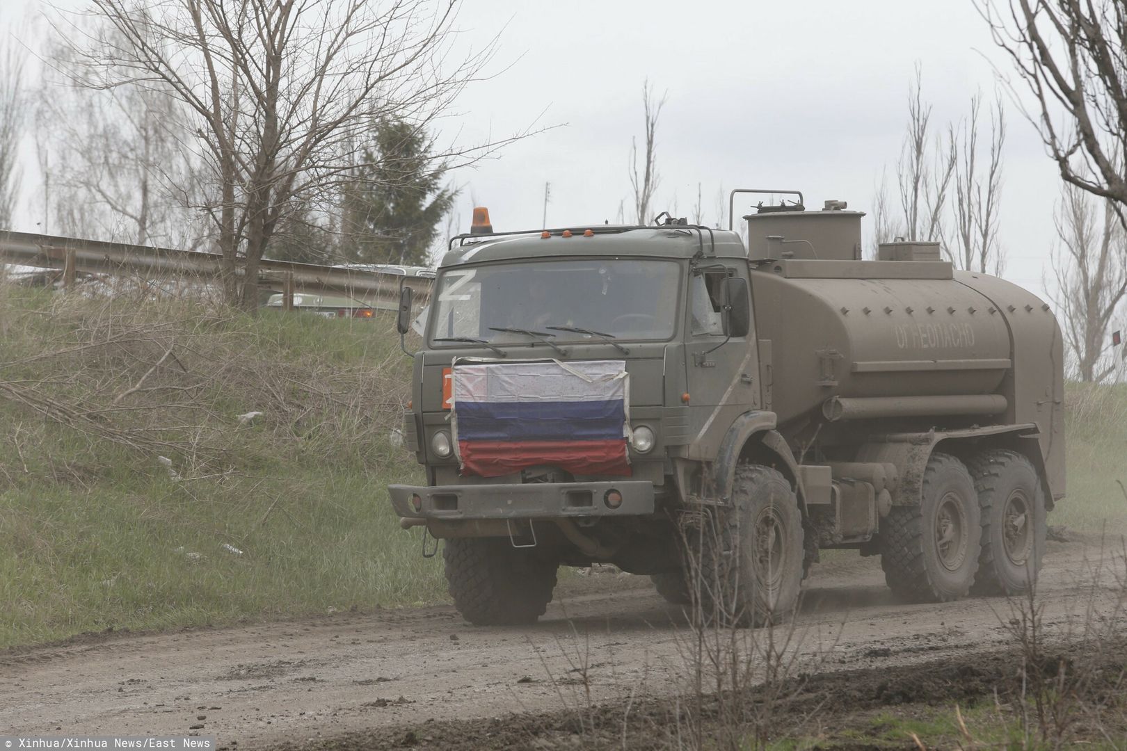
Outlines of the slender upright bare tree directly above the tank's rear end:
M 978 126 L 982 95 L 970 98 L 970 115 L 962 122 L 956 142 L 955 244 L 957 263 L 965 269 L 1001 274 L 1005 258 L 999 245 L 999 200 L 1002 189 L 1002 146 L 1005 113 L 995 98 L 990 114 L 990 143 L 979 153 Z M 985 160 L 983 159 L 985 157 Z M 955 256 L 955 253 L 951 253 Z

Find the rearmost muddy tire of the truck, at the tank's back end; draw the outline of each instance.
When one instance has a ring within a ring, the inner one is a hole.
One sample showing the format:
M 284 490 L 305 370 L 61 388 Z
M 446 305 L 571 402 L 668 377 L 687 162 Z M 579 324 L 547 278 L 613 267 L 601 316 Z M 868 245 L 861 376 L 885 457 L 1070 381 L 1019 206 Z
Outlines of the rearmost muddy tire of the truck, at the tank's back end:
M 1022 594 L 1036 583 L 1045 554 L 1045 486 L 1032 463 L 1004 449 L 984 452 L 967 467 L 982 509 L 976 594 Z

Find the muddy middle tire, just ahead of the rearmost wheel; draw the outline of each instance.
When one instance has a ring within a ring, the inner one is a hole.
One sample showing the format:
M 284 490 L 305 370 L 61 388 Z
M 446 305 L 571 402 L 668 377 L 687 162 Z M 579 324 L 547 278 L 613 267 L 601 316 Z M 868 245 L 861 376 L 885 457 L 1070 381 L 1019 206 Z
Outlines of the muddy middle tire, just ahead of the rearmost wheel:
M 932 454 L 920 506 L 894 507 L 880 524 L 880 566 L 900 599 L 946 602 L 966 597 L 982 551 L 978 493 L 966 465 Z

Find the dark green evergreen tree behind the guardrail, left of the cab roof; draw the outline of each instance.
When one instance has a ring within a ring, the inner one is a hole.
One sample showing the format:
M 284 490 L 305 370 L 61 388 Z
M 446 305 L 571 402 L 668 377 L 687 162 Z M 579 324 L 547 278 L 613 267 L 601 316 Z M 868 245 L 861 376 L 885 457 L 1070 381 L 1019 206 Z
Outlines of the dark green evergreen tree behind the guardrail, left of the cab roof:
M 426 266 L 456 190 L 442 185 L 426 133 L 383 120 L 341 190 L 341 254 L 361 263 Z

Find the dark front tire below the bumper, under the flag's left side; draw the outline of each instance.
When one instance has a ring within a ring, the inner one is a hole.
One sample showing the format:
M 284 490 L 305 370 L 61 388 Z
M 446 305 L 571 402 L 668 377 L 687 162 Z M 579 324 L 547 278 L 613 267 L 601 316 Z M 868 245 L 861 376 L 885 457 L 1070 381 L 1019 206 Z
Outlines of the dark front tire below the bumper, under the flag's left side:
M 447 539 L 442 553 L 454 607 L 474 626 L 532 624 L 556 588 L 554 561 L 504 537 Z

